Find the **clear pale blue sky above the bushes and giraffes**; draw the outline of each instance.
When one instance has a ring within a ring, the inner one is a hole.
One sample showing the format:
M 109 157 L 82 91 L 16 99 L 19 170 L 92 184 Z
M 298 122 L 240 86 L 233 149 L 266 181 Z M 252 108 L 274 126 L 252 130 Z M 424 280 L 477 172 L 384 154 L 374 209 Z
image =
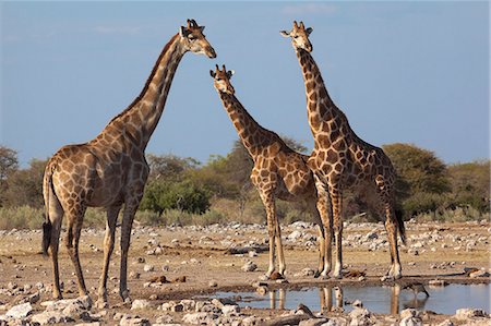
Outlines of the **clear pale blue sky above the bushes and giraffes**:
M 137 96 L 188 17 L 217 59 L 181 61 L 147 153 L 226 155 L 237 133 L 208 71 L 226 63 L 263 126 L 312 147 L 292 20 L 313 27 L 327 89 L 367 142 L 445 162 L 489 158 L 488 2 L 1 2 L 0 143 L 23 166 L 95 137 Z

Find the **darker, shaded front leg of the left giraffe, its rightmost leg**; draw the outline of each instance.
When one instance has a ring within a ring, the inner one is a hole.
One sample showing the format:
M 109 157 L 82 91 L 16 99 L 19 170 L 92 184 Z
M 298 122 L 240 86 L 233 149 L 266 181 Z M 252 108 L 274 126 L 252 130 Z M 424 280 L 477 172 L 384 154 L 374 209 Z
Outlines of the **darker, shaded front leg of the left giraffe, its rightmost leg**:
M 130 250 L 131 228 L 133 226 L 134 214 L 140 204 L 140 198 L 133 198 L 124 204 L 124 213 L 121 224 L 121 269 L 119 277 L 119 294 L 121 299 L 131 302 L 130 290 L 128 289 L 128 252 Z

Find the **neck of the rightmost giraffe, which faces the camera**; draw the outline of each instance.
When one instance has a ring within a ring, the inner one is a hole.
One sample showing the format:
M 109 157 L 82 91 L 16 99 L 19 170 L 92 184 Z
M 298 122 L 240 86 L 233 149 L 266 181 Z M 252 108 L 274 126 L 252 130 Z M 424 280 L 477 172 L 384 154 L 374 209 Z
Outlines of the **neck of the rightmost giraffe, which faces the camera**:
M 340 128 L 338 124 L 343 122 L 338 120 L 346 120 L 346 117 L 331 99 L 312 56 L 303 49 L 297 49 L 296 52 L 306 85 L 309 124 L 315 138 L 322 131 L 328 133 L 338 130 Z

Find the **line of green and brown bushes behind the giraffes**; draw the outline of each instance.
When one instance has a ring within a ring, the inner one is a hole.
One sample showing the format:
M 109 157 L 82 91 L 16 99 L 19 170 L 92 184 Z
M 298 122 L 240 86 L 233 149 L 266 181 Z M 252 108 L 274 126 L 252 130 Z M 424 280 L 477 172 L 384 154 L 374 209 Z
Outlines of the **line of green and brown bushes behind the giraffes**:
M 307 148 L 285 137 L 298 152 Z M 489 219 L 490 161 L 445 165 L 434 153 L 411 144 L 383 146 L 396 171 L 397 208 L 405 218 L 466 221 Z M 136 222 L 151 226 L 265 222 L 258 192 L 249 180 L 253 161 L 240 142 L 226 156 L 205 165 L 193 158 L 147 155 L 151 176 Z M 0 229 L 38 229 L 43 222 L 43 173 L 46 161 L 19 167 L 14 149 L 0 145 Z M 346 217 L 378 220 L 364 203 L 346 193 Z M 367 213 L 360 215 L 359 213 Z M 311 220 L 304 203 L 277 203 L 282 222 Z M 106 213 L 89 208 L 84 226 L 104 227 Z

